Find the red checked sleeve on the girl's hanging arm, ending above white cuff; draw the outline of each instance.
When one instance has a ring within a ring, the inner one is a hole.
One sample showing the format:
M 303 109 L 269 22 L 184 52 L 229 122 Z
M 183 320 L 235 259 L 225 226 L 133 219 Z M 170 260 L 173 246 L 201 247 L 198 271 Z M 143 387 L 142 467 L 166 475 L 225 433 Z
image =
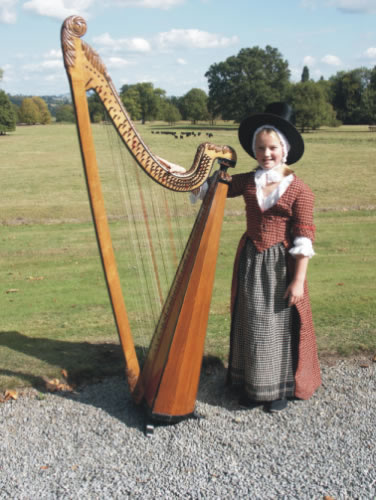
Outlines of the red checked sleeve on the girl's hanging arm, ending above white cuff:
M 315 225 L 313 223 L 314 195 L 308 186 L 302 186 L 292 206 L 291 236 L 293 241 L 298 237 L 315 239 Z M 295 242 L 294 242 L 295 243 Z

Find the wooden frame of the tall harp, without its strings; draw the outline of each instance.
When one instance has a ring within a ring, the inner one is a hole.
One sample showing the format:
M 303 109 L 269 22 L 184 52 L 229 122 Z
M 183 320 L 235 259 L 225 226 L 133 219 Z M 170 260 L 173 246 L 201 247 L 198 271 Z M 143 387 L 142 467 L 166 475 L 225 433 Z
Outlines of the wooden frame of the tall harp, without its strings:
M 228 146 L 205 143 L 198 147 L 188 170 L 153 154 L 134 128 L 98 54 L 81 40 L 85 32 L 84 19 L 78 16 L 66 19 L 62 26 L 62 49 L 93 221 L 125 357 L 127 380 L 134 400 L 146 403 L 153 419 L 178 421 L 194 412 L 228 187 L 218 180 L 218 174 L 214 176 L 182 251 L 140 369 L 106 215 L 86 93 L 94 90 L 102 101 L 118 136 L 138 165 L 136 170 L 140 171 L 140 178 L 137 173 L 137 182 L 142 183 L 150 177 L 162 191 L 167 188 L 187 198 L 187 192 L 207 179 L 216 161 L 221 169 L 235 166 L 236 154 Z M 147 176 L 143 176 L 139 167 Z

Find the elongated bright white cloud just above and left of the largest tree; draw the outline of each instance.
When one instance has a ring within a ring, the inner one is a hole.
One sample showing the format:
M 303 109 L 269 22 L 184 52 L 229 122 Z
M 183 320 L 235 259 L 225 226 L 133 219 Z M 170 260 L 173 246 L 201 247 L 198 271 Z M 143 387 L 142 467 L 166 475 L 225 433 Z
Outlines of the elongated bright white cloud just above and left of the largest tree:
M 192 47 L 196 49 L 228 47 L 239 41 L 237 36 L 227 38 L 198 29 L 172 29 L 158 35 L 162 49 Z

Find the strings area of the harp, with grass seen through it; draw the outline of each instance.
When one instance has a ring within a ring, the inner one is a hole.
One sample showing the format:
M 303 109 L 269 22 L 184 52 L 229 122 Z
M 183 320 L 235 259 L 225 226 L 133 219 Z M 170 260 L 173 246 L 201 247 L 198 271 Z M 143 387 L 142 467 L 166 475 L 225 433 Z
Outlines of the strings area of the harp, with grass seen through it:
M 99 135 L 100 143 L 105 136 L 109 144 L 100 144 L 98 161 L 132 334 L 146 348 L 199 207 L 187 193 L 164 189 L 145 175 L 112 124 L 95 128 L 96 143 Z

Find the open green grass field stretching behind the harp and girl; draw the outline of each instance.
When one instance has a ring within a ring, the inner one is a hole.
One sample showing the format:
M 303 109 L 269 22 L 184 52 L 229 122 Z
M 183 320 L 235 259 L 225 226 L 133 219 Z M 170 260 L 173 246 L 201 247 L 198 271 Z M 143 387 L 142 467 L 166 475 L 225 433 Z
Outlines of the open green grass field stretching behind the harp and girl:
M 105 128 L 94 127 L 104 158 L 110 154 Z M 176 140 L 152 134 L 157 128 L 139 126 L 153 151 L 184 166 L 209 131 L 198 126 L 200 137 Z M 236 149 L 238 172 L 253 166 L 235 127 L 210 132 L 211 142 Z M 310 262 L 309 286 L 320 354 L 371 355 L 376 352 L 376 134 L 368 127 L 340 127 L 304 139 L 306 153 L 295 171 L 316 195 L 317 255 Z M 39 386 L 42 377 L 60 377 L 62 369 L 77 380 L 121 372 L 75 127 L 18 127 L 1 137 L 0 173 L 0 391 Z M 113 181 L 108 176 L 106 182 L 116 218 Z M 241 199 L 228 200 L 206 344 L 207 353 L 222 360 L 243 211 Z

